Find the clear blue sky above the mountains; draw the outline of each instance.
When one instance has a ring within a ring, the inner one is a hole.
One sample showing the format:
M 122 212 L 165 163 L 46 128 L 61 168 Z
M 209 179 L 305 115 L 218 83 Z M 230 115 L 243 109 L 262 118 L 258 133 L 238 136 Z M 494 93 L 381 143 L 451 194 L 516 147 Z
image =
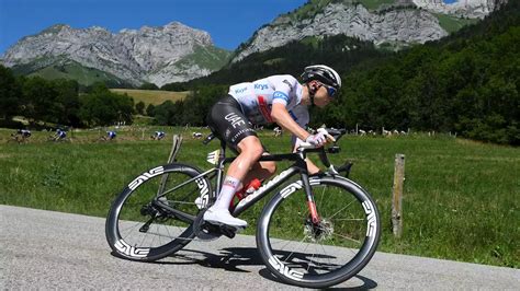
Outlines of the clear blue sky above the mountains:
M 0 55 L 23 36 L 63 23 L 116 33 L 179 21 L 235 49 L 261 25 L 306 0 L 0 0 Z

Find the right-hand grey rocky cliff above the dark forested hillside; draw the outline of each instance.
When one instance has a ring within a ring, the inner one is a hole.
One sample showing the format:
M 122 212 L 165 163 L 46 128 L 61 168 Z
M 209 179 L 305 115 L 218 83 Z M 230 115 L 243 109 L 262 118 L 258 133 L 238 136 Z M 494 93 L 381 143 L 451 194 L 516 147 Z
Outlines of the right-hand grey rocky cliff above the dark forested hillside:
M 380 4 L 372 1 L 369 9 L 363 4 L 366 1 L 309 0 L 298 10 L 259 28 L 240 46 L 233 61 L 308 36 L 344 34 L 376 45 L 423 44 L 448 35 L 439 14 L 451 15 L 451 22 L 460 21 L 463 26 L 465 19 L 482 19 L 506 1 L 460 0 L 453 4 L 444 4 L 443 0 L 395 0 Z

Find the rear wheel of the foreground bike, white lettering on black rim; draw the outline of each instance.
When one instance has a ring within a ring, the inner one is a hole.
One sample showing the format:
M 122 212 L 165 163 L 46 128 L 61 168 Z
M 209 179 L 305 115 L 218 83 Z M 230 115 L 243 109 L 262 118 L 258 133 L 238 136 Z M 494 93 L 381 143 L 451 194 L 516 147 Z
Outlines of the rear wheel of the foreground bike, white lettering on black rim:
M 128 184 L 106 217 L 105 235 L 113 253 L 131 260 L 154 261 L 190 243 L 200 212 L 195 199 L 206 199 L 212 190 L 204 176 L 189 182 L 201 173 L 196 167 L 172 163 L 151 168 Z M 189 183 L 171 191 L 183 182 Z M 161 194 L 165 198 L 159 198 Z

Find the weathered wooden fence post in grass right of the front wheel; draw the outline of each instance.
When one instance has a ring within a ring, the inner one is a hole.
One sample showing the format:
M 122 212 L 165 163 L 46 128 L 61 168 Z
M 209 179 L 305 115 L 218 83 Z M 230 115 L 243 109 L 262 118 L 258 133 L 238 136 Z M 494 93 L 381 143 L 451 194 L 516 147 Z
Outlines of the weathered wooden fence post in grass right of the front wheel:
M 405 182 L 405 155 L 395 155 L 394 197 L 392 200 L 392 226 L 394 236 L 403 234 L 403 185 Z

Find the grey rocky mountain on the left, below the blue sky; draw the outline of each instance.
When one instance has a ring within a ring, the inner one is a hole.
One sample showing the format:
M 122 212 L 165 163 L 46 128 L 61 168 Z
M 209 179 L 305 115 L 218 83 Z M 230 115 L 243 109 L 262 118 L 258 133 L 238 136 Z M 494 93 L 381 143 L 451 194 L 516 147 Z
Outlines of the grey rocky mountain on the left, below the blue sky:
M 8 67 L 38 70 L 76 61 L 138 85 L 162 85 L 206 75 L 225 65 L 228 51 L 216 48 L 210 34 L 173 22 L 161 27 L 86 30 L 55 25 L 18 42 L 3 56 Z

